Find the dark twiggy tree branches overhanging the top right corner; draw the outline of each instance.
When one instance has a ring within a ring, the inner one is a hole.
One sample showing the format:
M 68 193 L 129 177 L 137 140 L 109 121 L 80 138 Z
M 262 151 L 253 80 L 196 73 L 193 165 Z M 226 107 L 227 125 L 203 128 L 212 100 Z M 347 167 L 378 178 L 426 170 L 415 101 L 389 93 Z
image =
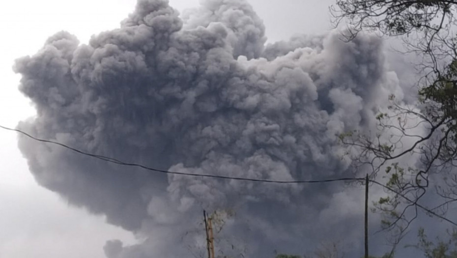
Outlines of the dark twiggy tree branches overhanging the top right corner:
M 406 52 L 423 56 L 419 66 L 432 78 L 457 57 L 457 0 L 337 0 L 330 10 L 336 26 L 346 23 L 347 40 L 362 30 L 404 36 Z

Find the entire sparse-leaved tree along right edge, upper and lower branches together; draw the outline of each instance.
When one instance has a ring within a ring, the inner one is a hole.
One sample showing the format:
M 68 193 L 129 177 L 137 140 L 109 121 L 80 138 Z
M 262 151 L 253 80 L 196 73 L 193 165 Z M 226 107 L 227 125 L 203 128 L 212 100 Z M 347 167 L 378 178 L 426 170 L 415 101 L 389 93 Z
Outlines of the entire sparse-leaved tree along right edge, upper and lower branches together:
M 423 57 L 418 67 L 425 80 L 415 105 L 391 96 L 388 110 L 376 117 L 376 132 L 340 136 L 356 169 L 368 167 L 375 183 L 382 172 L 389 195 L 375 202 L 375 210 L 383 212 L 382 225 L 394 232 L 395 245 L 418 209 L 442 217 L 457 201 L 457 0 L 338 0 L 331 11 L 336 25 L 346 22 L 347 40 L 362 30 L 401 36 L 405 52 Z M 411 157 L 417 162 L 408 164 Z M 442 200 L 428 208 L 420 201 L 429 189 Z

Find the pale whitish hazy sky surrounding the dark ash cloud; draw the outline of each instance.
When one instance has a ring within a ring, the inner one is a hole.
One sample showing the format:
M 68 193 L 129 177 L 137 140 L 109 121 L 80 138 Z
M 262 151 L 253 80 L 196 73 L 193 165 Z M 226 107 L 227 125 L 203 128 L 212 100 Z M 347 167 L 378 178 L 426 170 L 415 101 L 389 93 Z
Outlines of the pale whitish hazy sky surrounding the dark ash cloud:
M 198 0 L 170 2 L 178 10 L 199 4 Z M 269 42 L 329 28 L 329 0 L 250 2 L 264 21 Z M 59 30 L 87 42 L 92 34 L 118 27 L 134 5 L 134 0 L 2 1 L 0 124 L 15 127 L 33 115 L 29 101 L 17 90 L 20 77 L 11 68 L 15 58 L 35 53 Z M 0 258 L 103 258 L 106 240 L 135 242 L 131 233 L 104 223 L 102 216 L 70 207 L 37 186 L 17 148 L 15 133 L 1 130 L 0 143 Z

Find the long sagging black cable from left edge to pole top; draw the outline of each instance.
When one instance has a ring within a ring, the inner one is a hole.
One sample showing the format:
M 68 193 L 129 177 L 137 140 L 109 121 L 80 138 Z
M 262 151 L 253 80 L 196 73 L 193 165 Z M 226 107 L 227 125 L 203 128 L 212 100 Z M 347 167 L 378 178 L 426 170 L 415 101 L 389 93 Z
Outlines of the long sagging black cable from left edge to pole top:
M 179 175 L 187 175 L 187 176 L 202 176 L 202 177 L 212 177 L 212 178 L 219 178 L 219 179 L 232 179 L 232 180 L 241 180 L 241 181 L 253 181 L 253 182 L 264 182 L 264 183 L 278 183 L 278 184 L 293 184 L 293 183 L 327 183 L 327 182 L 335 182 L 335 181 L 357 181 L 357 180 L 364 180 L 365 178 L 358 178 L 358 177 L 343 177 L 343 178 L 333 178 L 333 179 L 324 179 L 324 180 L 290 180 L 290 181 L 280 181 L 280 180 L 268 180 L 268 179 L 256 179 L 256 178 L 246 178 L 246 177 L 236 177 L 236 176 L 225 176 L 225 175 L 213 175 L 213 174 L 199 174 L 199 173 L 185 173 L 185 172 L 173 172 L 173 171 L 167 171 L 167 170 L 159 170 L 159 169 L 154 169 L 148 166 L 144 166 L 142 164 L 137 164 L 137 163 L 129 163 L 129 162 L 124 162 L 115 158 L 103 156 L 103 155 L 97 155 L 97 154 L 92 154 L 86 151 L 82 151 L 73 147 L 70 147 L 66 144 L 63 143 L 58 143 L 55 141 L 50 141 L 50 140 L 44 140 L 40 138 L 36 138 L 31 136 L 30 134 L 19 130 L 19 129 L 13 129 L 9 127 L 5 127 L 0 125 L 0 128 L 9 130 L 9 131 L 15 131 L 18 133 L 21 133 L 30 139 L 33 139 L 38 142 L 42 143 L 51 143 L 55 144 L 67 149 L 70 149 L 74 152 L 77 152 L 82 155 L 90 156 L 96 159 L 100 159 L 106 162 L 114 163 L 117 165 L 122 165 L 122 166 L 130 166 L 130 167 L 138 167 L 142 168 L 144 170 L 148 171 L 153 171 L 153 172 L 160 172 L 160 173 L 166 173 L 166 174 L 179 174 Z

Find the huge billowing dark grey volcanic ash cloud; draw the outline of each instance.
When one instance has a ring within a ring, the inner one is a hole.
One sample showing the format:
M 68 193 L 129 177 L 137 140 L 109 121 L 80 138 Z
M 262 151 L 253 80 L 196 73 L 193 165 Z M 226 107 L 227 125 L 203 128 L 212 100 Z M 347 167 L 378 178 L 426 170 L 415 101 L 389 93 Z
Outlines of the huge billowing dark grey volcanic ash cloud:
M 204 0 L 182 15 L 166 0 L 138 0 L 119 29 L 87 45 L 58 32 L 34 56 L 16 61 L 19 88 L 37 111 L 18 127 L 174 172 L 353 176 L 337 135 L 370 130 L 388 95 L 401 98 L 387 67 L 382 40 L 369 35 L 343 42 L 340 32 L 330 32 L 266 44 L 264 25 L 246 0 Z M 108 258 L 204 251 L 203 209 L 235 212 L 216 244 L 220 254 L 273 257 L 275 249 L 292 252 L 329 236 L 361 242 L 363 196 L 341 182 L 163 174 L 26 137 L 19 146 L 40 185 L 139 237 L 132 246 L 107 239 Z

